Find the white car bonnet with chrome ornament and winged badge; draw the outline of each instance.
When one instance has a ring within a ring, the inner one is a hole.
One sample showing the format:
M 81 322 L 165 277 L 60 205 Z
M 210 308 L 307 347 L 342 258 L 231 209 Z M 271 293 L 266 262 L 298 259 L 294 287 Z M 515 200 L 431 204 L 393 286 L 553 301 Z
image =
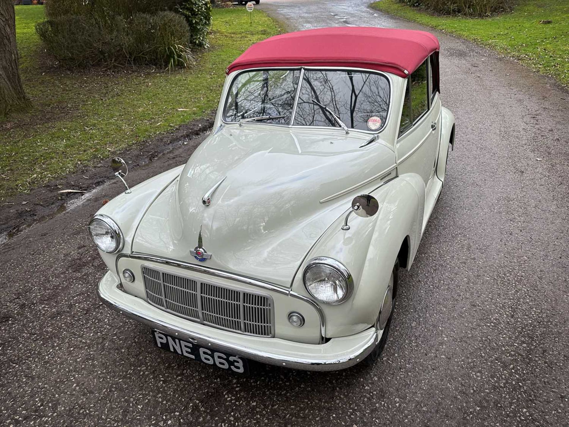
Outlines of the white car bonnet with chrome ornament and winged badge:
M 366 136 L 274 129 L 253 124 L 206 139 L 146 212 L 133 251 L 290 287 L 360 191 L 345 190 L 393 166 L 394 153 L 381 141 L 360 148 Z M 192 254 L 199 241 L 211 258 Z

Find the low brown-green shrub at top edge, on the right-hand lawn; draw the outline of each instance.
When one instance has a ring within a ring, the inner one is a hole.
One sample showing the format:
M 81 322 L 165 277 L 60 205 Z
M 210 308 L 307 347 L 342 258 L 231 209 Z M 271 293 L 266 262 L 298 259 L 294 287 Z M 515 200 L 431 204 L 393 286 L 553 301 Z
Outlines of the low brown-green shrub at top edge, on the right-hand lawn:
M 512 10 L 513 0 L 399 0 L 443 15 L 485 17 Z

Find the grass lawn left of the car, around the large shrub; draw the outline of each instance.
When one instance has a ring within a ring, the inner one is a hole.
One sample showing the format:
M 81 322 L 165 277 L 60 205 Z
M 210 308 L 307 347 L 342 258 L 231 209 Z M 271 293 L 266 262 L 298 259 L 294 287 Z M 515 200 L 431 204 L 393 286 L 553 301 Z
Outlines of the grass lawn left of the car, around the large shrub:
M 190 69 L 65 71 L 50 63 L 35 32 L 43 6 L 15 10 L 20 74 L 34 110 L 0 118 L 0 200 L 215 110 L 227 66 L 279 32 L 262 11 L 251 25 L 243 7 L 213 9 L 210 47 Z

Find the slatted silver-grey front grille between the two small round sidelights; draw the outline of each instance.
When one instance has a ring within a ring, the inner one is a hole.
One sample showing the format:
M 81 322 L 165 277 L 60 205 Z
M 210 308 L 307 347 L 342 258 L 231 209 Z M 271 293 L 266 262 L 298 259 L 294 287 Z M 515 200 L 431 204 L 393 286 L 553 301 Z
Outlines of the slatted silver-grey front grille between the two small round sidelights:
M 273 336 L 273 300 L 144 266 L 146 298 L 195 322 L 255 336 Z

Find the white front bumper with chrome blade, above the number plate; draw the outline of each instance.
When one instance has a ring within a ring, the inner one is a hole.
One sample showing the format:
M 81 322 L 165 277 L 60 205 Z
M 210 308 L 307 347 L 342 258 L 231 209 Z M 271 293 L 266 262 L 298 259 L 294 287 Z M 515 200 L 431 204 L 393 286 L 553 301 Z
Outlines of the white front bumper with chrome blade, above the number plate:
M 324 344 L 304 344 L 279 338 L 259 338 L 218 330 L 160 310 L 118 288 L 118 278 L 107 272 L 98 286 L 101 301 L 111 309 L 153 329 L 202 347 L 211 347 L 257 362 L 306 371 L 336 371 L 361 362 L 381 334 L 369 328 L 358 334 L 332 338 Z

